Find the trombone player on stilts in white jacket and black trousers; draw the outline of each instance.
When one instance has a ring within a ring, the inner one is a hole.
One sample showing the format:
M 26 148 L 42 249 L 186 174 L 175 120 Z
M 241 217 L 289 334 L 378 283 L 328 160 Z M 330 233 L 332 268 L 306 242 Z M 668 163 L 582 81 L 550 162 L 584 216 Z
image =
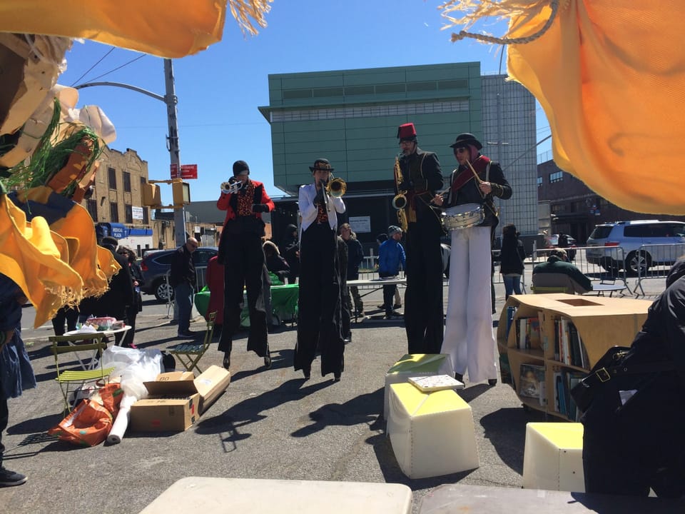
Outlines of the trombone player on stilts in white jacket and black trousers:
M 345 343 L 340 331 L 340 263 L 338 213 L 345 212 L 342 198 L 326 192 L 333 168 L 325 158 L 310 166 L 314 182 L 300 187 L 300 299 L 295 371 L 310 378 L 315 352 L 321 354 L 321 376 L 333 373 L 340 380 Z

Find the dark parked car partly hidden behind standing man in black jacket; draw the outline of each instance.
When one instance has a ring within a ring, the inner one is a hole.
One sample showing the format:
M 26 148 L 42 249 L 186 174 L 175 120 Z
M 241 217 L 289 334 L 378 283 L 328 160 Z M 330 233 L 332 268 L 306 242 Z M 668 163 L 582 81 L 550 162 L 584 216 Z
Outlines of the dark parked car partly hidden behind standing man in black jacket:
M 153 250 L 146 252 L 141 261 L 143 270 L 143 286 L 141 291 L 146 294 L 153 294 L 157 301 L 166 303 L 173 299 L 173 288 L 166 282 L 166 273 L 171 269 L 171 256 L 176 251 L 173 250 Z M 218 253 L 215 246 L 201 246 L 193 252 L 193 263 L 195 263 L 198 275 L 198 287 L 205 285 L 205 271 L 209 259 Z

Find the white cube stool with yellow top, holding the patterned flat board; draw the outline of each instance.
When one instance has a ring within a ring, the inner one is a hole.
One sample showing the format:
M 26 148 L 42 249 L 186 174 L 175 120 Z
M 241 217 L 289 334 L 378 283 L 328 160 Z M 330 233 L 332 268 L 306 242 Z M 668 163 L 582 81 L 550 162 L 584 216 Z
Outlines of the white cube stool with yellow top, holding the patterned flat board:
M 479 466 L 471 407 L 452 389 L 422 393 L 411 383 L 390 385 L 387 435 L 409 478 Z

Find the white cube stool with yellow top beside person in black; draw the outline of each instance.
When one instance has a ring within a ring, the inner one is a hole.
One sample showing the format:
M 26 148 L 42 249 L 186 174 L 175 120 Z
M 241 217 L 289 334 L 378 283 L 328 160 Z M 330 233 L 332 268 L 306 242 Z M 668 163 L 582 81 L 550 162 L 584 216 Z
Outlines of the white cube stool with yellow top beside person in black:
M 582 423 L 528 423 L 523 487 L 585 492 Z

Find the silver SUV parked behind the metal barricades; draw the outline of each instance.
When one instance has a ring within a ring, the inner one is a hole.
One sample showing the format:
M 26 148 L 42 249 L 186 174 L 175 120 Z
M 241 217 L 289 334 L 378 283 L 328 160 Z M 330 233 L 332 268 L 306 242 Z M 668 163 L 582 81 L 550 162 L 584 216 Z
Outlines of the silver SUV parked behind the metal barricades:
M 682 253 L 685 246 L 678 248 L 642 245 L 685 244 L 685 223 L 681 221 L 635 220 L 602 223 L 594 227 L 587 239 L 587 246 L 623 248 L 623 260 L 619 254 L 601 249 L 587 250 L 587 260 L 599 264 L 607 271 L 625 269 L 626 273 L 636 275 L 647 271 L 651 266 L 670 266 Z

